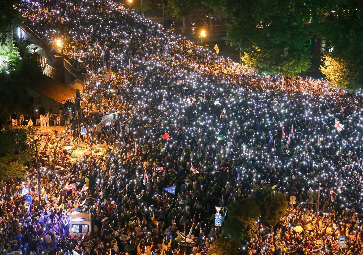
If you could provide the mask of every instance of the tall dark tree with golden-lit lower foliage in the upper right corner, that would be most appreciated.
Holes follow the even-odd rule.
[[[360,1],[318,1],[320,22],[315,33],[326,40],[321,71],[332,85],[347,89],[363,83],[363,13]]]

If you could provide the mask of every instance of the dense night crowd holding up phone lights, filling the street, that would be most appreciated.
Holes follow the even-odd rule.
[[[29,1],[20,11],[86,73],[87,135],[79,140],[77,121],[39,134],[41,199],[34,165],[5,183],[0,254],[181,254],[184,221],[195,238],[187,254],[206,254],[223,236],[214,206],[228,217],[253,183],[297,205],[277,226],[256,223],[248,254],[338,254],[342,235],[344,254],[362,253],[360,92],[260,76],[112,1]],[[74,210],[91,212],[89,237],[69,239]]]

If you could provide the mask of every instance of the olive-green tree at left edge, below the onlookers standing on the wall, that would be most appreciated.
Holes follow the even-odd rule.
[[[6,127],[0,132],[0,179],[6,180],[12,177],[24,177],[26,169],[24,165],[32,159],[34,152],[28,147],[34,137],[34,128],[13,129]],[[19,154],[14,154],[19,152]]]

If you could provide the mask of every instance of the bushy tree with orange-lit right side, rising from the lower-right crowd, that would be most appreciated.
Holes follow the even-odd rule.
[[[254,185],[251,197],[258,204],[261,211],[261,222],[275,226],[287,209],[285,195],[274,191],[269,186]]]

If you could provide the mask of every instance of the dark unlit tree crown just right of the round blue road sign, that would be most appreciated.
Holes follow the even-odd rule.
[[[257,220],[261,215],[261,211],[252,198],[246,198],[231,202],[228,206],[228,215],[230,217],[245,216]]]

